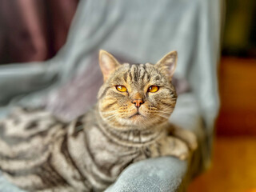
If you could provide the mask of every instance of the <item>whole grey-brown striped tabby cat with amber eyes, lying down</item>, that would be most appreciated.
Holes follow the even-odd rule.
[[[177,52],[155,65],[120,64],[99,52],[98,102],[70,123],[43,110],[18,109],[0,122],[0,170],[28,191],[102,191],[133,162],[197,148],[190,131],[171,126]]]

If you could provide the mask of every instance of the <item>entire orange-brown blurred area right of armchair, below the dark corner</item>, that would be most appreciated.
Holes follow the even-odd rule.
[[[189,192],[256,192],[256,59],[222,58],[213,165]]]

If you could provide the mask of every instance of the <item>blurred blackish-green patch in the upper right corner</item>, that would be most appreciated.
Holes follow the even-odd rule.
[[[222,54],[256,58],[256,1],[226,0]]]

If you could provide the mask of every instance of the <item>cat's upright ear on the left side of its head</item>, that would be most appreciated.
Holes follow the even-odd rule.
[[[116,58],[106,50],[99,50],[99,66],[102,69],[104,82],[110,77],[110,74],[116,70],[120,63]]]

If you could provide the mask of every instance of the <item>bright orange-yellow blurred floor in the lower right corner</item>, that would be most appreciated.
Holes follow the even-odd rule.
[[[256,138],[219,137],[210,170],[188,192],[256,192]]]

